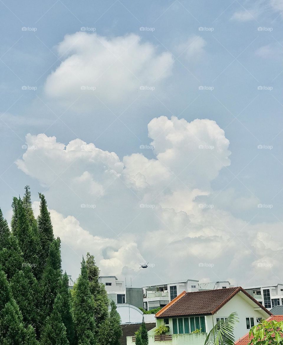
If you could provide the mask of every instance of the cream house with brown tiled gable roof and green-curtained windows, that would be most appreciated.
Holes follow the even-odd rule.
[[[148,332],[149,345],[203,345],[208,332],[221,320],[236,312],[239,323],[234,329],[235,339],[242,337],[253,325],[271,313],[242,287],[196,292],[183,291],[155,314],[156,327]],[[169,327],[164,336],[155,335],[160,325]],[[199,333],[195,333],[195,331]],[[127,338],[127,345],[133,345]]]

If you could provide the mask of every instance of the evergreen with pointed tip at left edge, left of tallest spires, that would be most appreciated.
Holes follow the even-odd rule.
[[[0,209],[0,266],[10,279],[23,263],[17,238],[11,234],[6,219]]]

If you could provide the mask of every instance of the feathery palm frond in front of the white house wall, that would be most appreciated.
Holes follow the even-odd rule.
[[[230,314],[225,321],[219,320],[205,339],[204,345],[234,345],[234,326],[239,322],[237,313]]]

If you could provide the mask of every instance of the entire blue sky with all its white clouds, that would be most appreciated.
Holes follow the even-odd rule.
[[[137,286],[184,276],[281,280],[282,0],[0,6],[0,205],[8,219],[26,184],[35,212],[44,192],[74,276],[90,250],[103,274],[134,276]],[[74,161],[63,158],[75,139]],[[100,156],[91,146],[87,158],[80,140]],[[203,154],[198,144],[214,147]],[[213,207],[200,212],[200,203]],[[82,212],[81,204],[95,207]],[[155,206],[140,215],[140,204]],[[142,260],[155,266],[141,273]]]

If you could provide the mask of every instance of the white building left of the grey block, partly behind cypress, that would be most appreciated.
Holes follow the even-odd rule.
[[[99,282],[105,285],[108,298],[113,300],[115,304],[125,304],[126,301],[126,287],[123,280],[118,280],[115,276],[101,276],[98,278]]]

